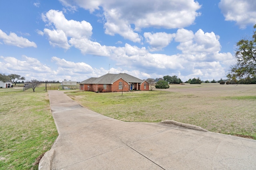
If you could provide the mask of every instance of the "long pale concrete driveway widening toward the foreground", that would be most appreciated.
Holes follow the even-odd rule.
[[[256,140],[168,123],[123,122],[48,91],[59,136],[40,170],[256,169]]]

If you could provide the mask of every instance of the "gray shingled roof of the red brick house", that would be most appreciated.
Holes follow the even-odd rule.
[[[144,80],[136,78],[126,73],[119,73],[119,74],[105,74],[99,78],[89,78],[80,82],[79,84],[112,84],[119,78],[124,79],[128,83],[142,83]]]

